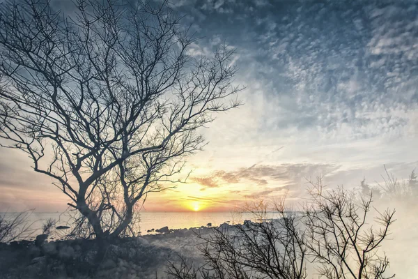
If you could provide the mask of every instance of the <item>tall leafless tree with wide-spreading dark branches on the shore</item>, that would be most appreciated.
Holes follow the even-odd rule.
[[[71,15],[48,1],[1,5],[2,145],[52,177],[98,239],[178,181],[212,112],[240,105],[234,51],[192,58],[180,20],[167,1],[77,0]]]

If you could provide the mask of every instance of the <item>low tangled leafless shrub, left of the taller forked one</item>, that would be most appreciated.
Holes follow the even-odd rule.
[[[206,264],[195,269],[182,258],[180,265],[171,263],[173,278],[307,278],[307,246],[299,219],[284,210],[284,199],[275,204],[274,220],[221,226],[208,236],[201,248]],[[268,205],[259,202],[247,206],[256,219],[266,219]]]

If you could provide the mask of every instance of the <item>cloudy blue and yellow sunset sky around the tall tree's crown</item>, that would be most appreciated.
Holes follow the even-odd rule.
[[[297,202],[309,177],[353,189],[382,181],[384,165],[398,179],[418,170],[416,1],[171,2],[201,38],[190,56],[235,47],[244,105],[201,130],[208,145],[188,158],[187,183],[148,195],[143,210]],[[23,153],[0,156],[0,211],[66,208]]]

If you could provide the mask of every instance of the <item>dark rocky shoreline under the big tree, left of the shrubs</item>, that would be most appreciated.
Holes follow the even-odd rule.
[[[167,259],[185,255],[199,261],[198,235],[214,228],[231,227],[211,223],[189,229],[155,229],[152,234],[118,239],[107,248],[101,262],[95,262],[98,243],[93,239],[35,240],[0,243],[2,278],[167,278]]]

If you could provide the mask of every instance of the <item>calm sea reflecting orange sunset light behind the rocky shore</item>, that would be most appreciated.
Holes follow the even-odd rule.
[[[15,212],[0,213],[3,218],[12,219],[17,214]],[[201,226],[219,226],[222,223],[231,225],[242,223],[244,220],[261,221],[272,218],[279,218],[278,213],[268,212],[263,215],[254,213],[240,212],[139,212],[137,218],[139,222],[135,222],[134,232],[140,235],[154,234],[155,229],[169,227],[169,229],[183,229]],[[68,213],[51,213],[51,212],[27,212],[26,225],[30,225],[31,236],[42,234],[42,225],[49,219],[56,220],[56,226],[71,227],[70,217]],[[138,219],[137,219],[138,220]],[[154,232],[149,232],[154,229]],[[70,229],[69,229],[70,230]]]

